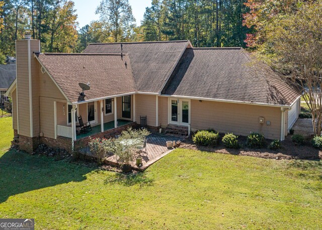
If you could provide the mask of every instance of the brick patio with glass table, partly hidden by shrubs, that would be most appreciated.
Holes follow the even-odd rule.
[[[154,162],[158,161],[159,159],[163,158],[167,154],[169,154],[174,148],[167,148],[166,141],[167,140],[183,140],[183,138],[177,137],[177,136],[171,136],[171,135],[164,135],[164,134],[150,134],[147,136],[147,144],[146,144],[146,150],[144,152],[141,152],[140,154],[136,154],[136,157],[141,156],[142,157],[142,167],[137,167],[135,165],[135,161],[131,162],[131,166],[135,170],[143,171],[150,165],[152,165]],[[81,154],[93,157],[91,151],[89,150],[89,147],[83,148],[79,151]],[[119,162],[116,160],[116,156],[108,156],[104,160],[105,164],[108,165],[114,165],[118,166]]]

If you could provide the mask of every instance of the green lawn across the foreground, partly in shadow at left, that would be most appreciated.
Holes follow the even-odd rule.
[[[0,175],[0,217],[36,229],[322,228],[321,162],[177,149],[124,177],[0,150]]]

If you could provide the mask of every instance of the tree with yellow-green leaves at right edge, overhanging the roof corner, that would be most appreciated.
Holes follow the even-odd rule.
[[[254,26],[249,46],[257,56],[282,73],[312,114],[314,134],[322,125],[322,1],[248,0],[251,13],[245,25]],[[284,5],[286,4],[286,5]],[[255,44],[255,45],[254,45]]]

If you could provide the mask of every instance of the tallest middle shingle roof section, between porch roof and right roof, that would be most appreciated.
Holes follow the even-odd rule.
[[[186,47],[190,45],[188,40],[100,43],[90,44],[84,53],[128,53],[137,91],[158,94],[162,91]]]

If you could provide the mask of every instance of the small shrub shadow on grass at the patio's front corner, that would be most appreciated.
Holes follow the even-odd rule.
[[[131,174],[118,173],[107,178],[105,184],[120,184],[128,187],[138,184],[142,187],[153,185],[153,180],[147,178],[145,174],[141,172]]]

